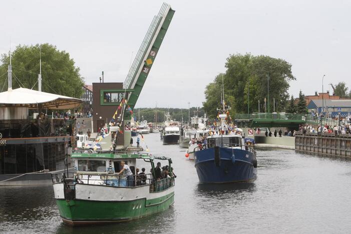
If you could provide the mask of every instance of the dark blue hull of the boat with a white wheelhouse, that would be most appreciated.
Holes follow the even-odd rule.
[[[256,178],[255,155],[244,149],[218,147],[195,151],[195,168],[202,183],[245,182]]]

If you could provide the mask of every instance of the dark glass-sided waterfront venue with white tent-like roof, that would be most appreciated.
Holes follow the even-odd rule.
[[[64,169],[75,120],[46,113],[80,104],[79,98],[12,89],[9,82],[8,91],[0,93],[0,185],[50,183],[50,172]]]

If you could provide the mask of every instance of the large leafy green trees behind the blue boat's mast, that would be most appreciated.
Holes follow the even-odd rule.
[[[270,109],[273,110],[273,98],[275,110],[283,111],[288,102],[289,81],[295,79],[291,72],[291,64],[280,58],[270,56],[253,56],[250,53],[234,54],[227,58],[227,68],[224,74],[224,93],[226,102],[232,107],[233,112],[247,113],[264,111],[264,98],[267,99],[267,76],[269,74],[269,100]],[[203,102],[205,111],[209,117],[216,116],[216,107],[220,105],[221,74],[206,86]],[[248,94],[249,93],[249,97]]]

